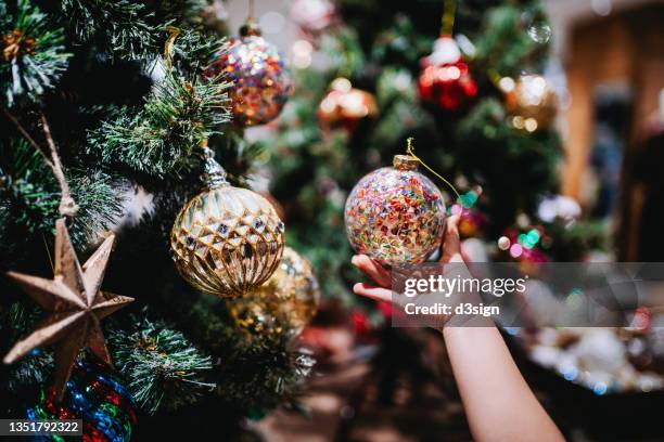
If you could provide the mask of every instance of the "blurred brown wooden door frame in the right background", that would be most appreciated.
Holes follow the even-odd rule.
[[[634,180],[631,166],[646,121],[657,110],[660,91],[664,88],[664,4],[642,5],[579,23],[572,31],[570,49],[566,73],[572,101],[565,116],[569,138],[562,191],[583,205],[583,177],[589,167],[595,135],[593,92],[601,83],[626,82],[634,104],[615,244],[617,259],[634,260],[643,193]]]

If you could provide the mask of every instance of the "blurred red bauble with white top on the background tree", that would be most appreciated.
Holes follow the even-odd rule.
[[[477,95],[477,83],[470,75],[461,51],[451,37],[440,37],[431,55],[420,63],[420,99],[444,110],[457,110]]]

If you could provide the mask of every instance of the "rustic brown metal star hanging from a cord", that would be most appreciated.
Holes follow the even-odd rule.
[[[51,315],[41,321],[29,336],[16,342],[3,362],[11,364],[36,347],[56,343],[54,388],[62,398],[81,348],[89,347],[111,364],[100,321],[133,301],[133,298],[100,290],[114,235],[110,235],[81,268],[64,219],[58,220],[55,227],[52,280],[8,272]]]

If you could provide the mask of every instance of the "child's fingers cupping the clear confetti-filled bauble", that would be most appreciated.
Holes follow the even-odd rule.
[[[394,297],[395,299],[392,297],[392,290],[390,288],[392,285],[392,276],[388,270],[384,269],[381,264],[366,255],[356,255],[350,262],[378,284],[378,286],[372,286],[365,283],[357,283],[353,286],[353,291],[355,291],[356,295],[366,296],[367,298],[378,301],[394,302],[403,307],[400,301],[406,300],[405,296],[397,295]],[[461,257],[461,239],[459,238],[459,216],[447,219],[445,240],[443,243],[443,256],[438,262],[444,264],[449,262],[464,262]]]

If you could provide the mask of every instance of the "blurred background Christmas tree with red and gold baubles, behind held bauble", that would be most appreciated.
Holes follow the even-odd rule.
[[[354,302],[348,192],[403,154],[408,136],[461,191],[448,206],[462,214],[462,234],[484,237],[499,259],[580,259],[597,238],[551,203],[562,152],[558,101],[541,76],[551,29],[539,1],[302,0],[292,16],[296,92],[259,145],[270,146],[288,242],[325,275],[327,296]],[[537,240],[521,244],[533,230]]]

